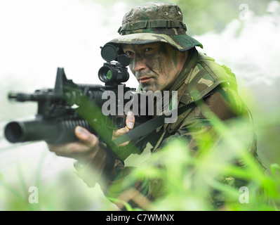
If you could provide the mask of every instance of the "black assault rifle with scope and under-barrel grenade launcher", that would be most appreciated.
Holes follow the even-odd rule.
[[[133,93],[135,89],[123,84],[129,78],[126,68],[130,63],[128,56],[118,55],[119,49],[111,44],[105,44],[101,49],[101,56],[106,63],[98,71],[98,77],[100,81],[105,82],[105,86],[75,84],[71,79],[67,79],[63,68],[58,68],[54,89],[40,89],[34,94],[8,94],[11,101],[37,102],[38,112],[35,120],[12,121],[6,124],[4,130],[6,139],[11,143],[26,141],[69,143],[77,140],[74,129],[79,125],[91,131],[113,149],[112,131],[125,126],[126,115],[123,111],[123,115],[118,113],[105,116],[101,110],[105,103],[102,94],[106,91],[114,92],[116,102],[113,107],[115,112],[119,112],[120,107],[124,108],[124,103],[133,101],[132,94],[130,99],[124,99],[126,102],[120,105],[119,87],[124,90],[122,94],[126,94],[127,91]]]

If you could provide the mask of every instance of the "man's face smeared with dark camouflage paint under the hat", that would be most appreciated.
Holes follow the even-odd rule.
[[[177,79],[187,59],[186,53],[169,44],[124,44],[131,58],[129,67],[144,91],[168,90]]]

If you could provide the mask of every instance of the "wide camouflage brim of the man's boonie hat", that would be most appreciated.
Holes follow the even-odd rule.
[[[171,44],[175,49],[179,51],[187,51],[192,49],[194,46],[200,46],[203,49],[203,45],[196,41],[196,39],[188,36],[187,34],[155,34],[155,33],[136,33],[136,34],[126,34],[121,35],[109,43],[112,44],[149,44],[152,42],[164,42]]]

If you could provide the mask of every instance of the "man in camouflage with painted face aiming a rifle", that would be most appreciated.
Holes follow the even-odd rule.
[[[152,2],[132,8],[126,13],[119,28],[121,35],[109,41],[131,58],[130,69],[140,84],[140,90],[177,91],[178,107],[205,97],[205,110],[194,104],[179,115],[176,122],[163,124],[161,129],[149,136],[147,142],[152,146],[152,153],[158,152],[173,137],[184,139],[192,153],[199,151],[200,139],[206,133],[211,134],[211,140],[206,141],[217,141],[211,124],[213,113],[222,121],[251,117],[237,93],[234,74],[225,66],[215,63],[213,58],[197,51],[196,46],[203,48],[202,44],[189,37],[186,31],[182,11],[178,6]],[[114,137],[133,129],[134,123],[133,114],[128,113],[126,127],[114,131]],[[79,142],[62,146],[49,145],[49,149],[58,155],[78,159],[76,169],[88,186],[94,186],[103,179],[105,182],[100,185],[105,195],[119,198],[124,190],[118,184],[121,184],[123,176],[129,174],[132,168],[126,167],[116,158],[110,158],[98,138],[86,129],[76,127],[75,134]],[[249,141],[251,145],[248,150],[258,160],[254,134]],[[128,148],[126,144],[120,148]],[[88,167],[98,171],[99,176],[84,176],[83,169]],[[112,185],[118,188],[110,188]],[[146,200],[154,200],[166,191],[160,178],[145,183],[136,182],[133,186],[129,194],[132,200],[136,193],[145,196]],[[129,203],[133,204],[133,201]],[[143,204],[141,206],[138,203],[138,206],[145,208]],[[116,205],[123,207],[120,203]]]

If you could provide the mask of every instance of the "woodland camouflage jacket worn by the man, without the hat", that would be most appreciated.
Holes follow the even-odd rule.
[[[209,93],[211,95],[204,98],[206,108],[194,104],[179,115],[176,122],[164,124],[149,135],[145,146],[152,154],[159,152],[174,137],[178,137],[185,141],[187,149],[195,155],[199,152],[201,144],[218,140],[213,124],[209,122],[212,117],[218,117],[222,121],[246,117],[251,123],[251,114],[237,93],[235,75],[227,67],[218,65],[213,58],[199,53],[195,48],[189,51],[185,67],[176,82],[180,83],[179,88],[175,89],[178,91],[178,107]],[[201,142],[201,139],[204,140]],[[248,150],[258,160],[254,132],[248,140]],[[236,163],[241,165],[241,162]],[[105,195],[116,200],[114,203],[121,209],[124,209],[124,202],[145,209],[149,201],[160,198],[168,191],[169,187],[161,177],[124,184],[132,170],[133,167],[116,160],[112,173],[105,183],[101,184]]]

